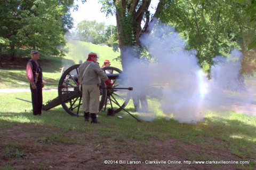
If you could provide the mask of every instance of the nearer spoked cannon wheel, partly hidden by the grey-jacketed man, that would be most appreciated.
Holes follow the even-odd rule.
[[[72,116],[84,116],[82,108],[82,92],[78,90],[78,67],[80,64],[69,67],[63,72],[58,86],[59,100],[63,109]],[[106,87],[101,83],[101,87]],[[102,110],[107,96],[106,88],[100,88],[100,106]]]

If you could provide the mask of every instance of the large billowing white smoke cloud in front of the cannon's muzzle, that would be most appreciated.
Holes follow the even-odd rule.
[[[151,27],[151,26],[150,26]],[[180,123],[196,123],[205,117],[205,110],[216,109],[223,103],[234,104],[223,90],[244,90],[245,86],[239,79],[242,54],[233,50],[228,58],[217,56],[212,67],[212,79],[208,80],[198,66],[196,51],[186,51],[185,41],[175,32],[174,28],[158,23],[150,34],[141,37],[143,46],[156,62],[136,59],[132,48],[125,53],[127,62],[125,76],[133,86],[133,95],[158,93],[161,98],[159,109],[166,119],[173,117]],[[157,92],[152,92],[157,88]],[[250,101],[251,102],[251,101]],[[152,104],[154,105],[154,104]],[[154,106],[149,106],[148,117],[143,113],[142,119],[156,118]],[[149,116],[150,115],[150,116]],[[154,115],[154,116],[153,116]],[[149,118],[151,117],[151,118]]]

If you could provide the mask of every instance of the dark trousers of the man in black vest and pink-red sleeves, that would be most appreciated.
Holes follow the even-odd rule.
[[[33,106],[33,115],[41,115],[42,114],[42,106],[43,106],[43,93],[42,93],[42,83],[36,83],[36,89],[33,89],[30,84],[31,90],[31,99]]]

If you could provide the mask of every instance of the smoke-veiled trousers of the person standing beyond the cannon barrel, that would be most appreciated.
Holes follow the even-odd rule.
[[[147,112],[148,111],[148,100],[146,94],[141,95],[134,95],[132,96],[132,101],[134,104],[135,111],[141,111],[140,110],[140,104],[142,111]]]

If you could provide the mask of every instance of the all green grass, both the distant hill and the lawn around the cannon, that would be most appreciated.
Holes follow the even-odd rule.
[[[100,55],[100,66],[103,60],[111,60],[111,66],[122,68],[121,63],[114,61],[118,53],[111,51],[110,47],[97,46],[84,42],[73,41],[68,44],[68,55],[61,58],[43,56],[43,60],[49,63],[43,65],[44,77],[49,84],[46,87],[57,87],[60,78],[61,60],[78,63],[79,59],[85,60],[87,53],[93,51]],[[1,70],[0,88],[28,88],[25,70]],[[15,85],[13,85],[15,84]],[[43,103],[58,96],[57,91],[44,91]],[[233,111],[217,112],[209,110],[202,122],[197,124],[178,123],[172,118],[167,121],[163,112],[158,109],[159,99],[157,97],[148,98],[150,110],[157,113],[156,119],[152,122],[138,123],[133,117],[124,111],[118,113],[122,119],[106,116],[106,112],[100,112],[98,118],[102,124],[94,125],[85,123],[82,117],[68,115],[61,106],[48,111],[43,111],[42,116],[33,116],[31,103],[17,100],[15,98],[31,99],[30,92],[0,93],[0,130],[8,131],[14,127],[22,127],[25,132],[29,132],[35,137],[37,143],[49,145],[57,144],[72,145],[79,144],[86,146],[86,143],[93,142],[93,151],[96,154],[108,154],[113,152],[113,148],[102,147],[106,143],[115,144],[116,150],[123,152],[133,148],[134,154],[139,158],[148,159],[149,155],[156,155],[157,150],[150,148],[153,139],[165,141],[175,139],[174,147],[181,147],[182,143],[197,145],[201,148],[200,153],[195,150],[189,152],[188,160],[220,160],[220,155],[230,153],[237,160],[254,160],[249,165],[235,165],[237,169],[255,169],[256,159],[256,117],[240,114]],[[131,114],[139,117],[140,114],[134,112],[132,102],[129,102],[125,109]],[[35,126],[36,125],[36,126]],[[31,127],[37,128],[33,131]],[[36,133],[38,132],[38,133]],[[32,135],[33,134],[33,135]],[[0,140],[4,135],[0,135]],[[149,147],[149,148],[147,148]],[[5,158],[8,159],[30,159],[25,154],[30,152],[19,143],[0,143],[0,149],[4,151]],[[213,150],[217,154],[209,153]],[[228,159],[228,158],[227,158]],[[12,164],[5,162],[3,169],[13,169]],[[1,166],[1,162],[0,162]],[[40,164],[45,167],[46,165]],[[220,167],[221,165],[212,165]]]

